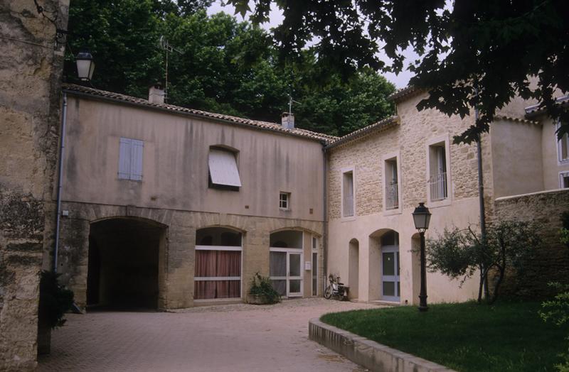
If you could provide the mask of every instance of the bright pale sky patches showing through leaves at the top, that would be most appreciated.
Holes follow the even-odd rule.
[[[225,13],[228,13],[232,16],[236,16],[238,18],[239,21],[243,21],[243,17],[240,16],[240,14],[235,14],[235,8],[233,6],[230,5],[223,5],[222,1],[220,0],[216,0],[213,2],[213,4],[211,4],[211,6],[208,8],[208,14],[215,14],[215,13],[219,13],[220,11],[223,11]],[[245,15],[245,19],[248,18],[248,15]],[[270,12],[270,21],[268,23],[263,23],[261,25],[262,28],[265,28],[265,30],[270,31],[270,28],[276,27],[278,25],[280,25],[280,23],[282,23],[282,12],[279,11],[279,9],[277,9],[275,7],[275,4],[272,4],[272,8],[271,8],[271,12]],[[413,52],[413,50],[405,50],[403,52],[403,55],[405,55],[405,58],[411,59],[411,60],[415,60],[418,58],[418,55],[415,54]],[[381,52],[379,53],[379,58],[383,61],[385,61],[388,65],[390,65],[390,60],[387,58],[387,56],[385,55],[385,53]],[[390,82],[393,82],[393,84],[395,84],[395,87],[397,88],[404,88],[407,87],[407,84],[409,83],[409,79],[410,77],[413,76],[413,74],[407,70],[405,70],[405,67],[403,69],[402,72],[399,73],[399,75],[395,75],[392,72],[386,72],[382,74],[383,76],[385,76],[385,78],[387,80],[389,80]]]

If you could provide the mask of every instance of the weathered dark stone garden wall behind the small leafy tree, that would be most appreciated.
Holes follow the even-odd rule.
[[[560,214],[569,212],[569,190],[536,192],[496,199],[496,220],[535,221],[544,245],[518,278],[506,278],[500,292],[529,298],[553,295],[549,282],[569,283],[569,248],[559,241]]]

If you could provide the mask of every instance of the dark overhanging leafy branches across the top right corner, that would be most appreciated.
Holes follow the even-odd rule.
[[[512,97],[536,99],[552,118],[561,118],[558,136],[569,133],[569,110],[555,104],[569,92],[569,2],[565,0],[228,0],[255,22],[267,21],[271,3],[285,19],[274,37],[285,58],[316,43],[319,62],[351,72],[403,69],[406,48],[410,84],[429,91],[418,108],[462,117],[478,106],[479,120],[454,138],[477,141],[488,131],[496,109]],[[393,61],[390,66],[378,51]],[[537,84],[532,85],[532,77]]]

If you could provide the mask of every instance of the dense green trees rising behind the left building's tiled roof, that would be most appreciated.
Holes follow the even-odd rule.
[[[278,61],[272,37],[258,26],[225,13],[208,16],[210,0],[74,0],[70,49],[89,48],[100,89],[147,97],[164,82],[164,36],[169,53],[169,103],[250,119],[278,121],[295,103],[297,126],[344,135],[393,114],[387,101],[395,87],[362,68],[344,78],[317,64],[316,50]],[[66,80],[76,82],[68,55]]]

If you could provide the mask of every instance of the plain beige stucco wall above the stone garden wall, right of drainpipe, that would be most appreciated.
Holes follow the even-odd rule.
[[[547,150],[542,151],[541,124],[499,119],[491,124],[490,136],[494,197],[543,190],[542,154]]]

